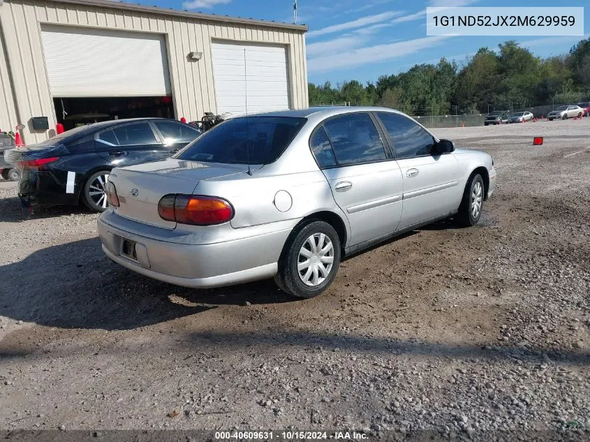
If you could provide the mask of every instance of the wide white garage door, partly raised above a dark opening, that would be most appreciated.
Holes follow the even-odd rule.
[[[164,36],[53,26],[41,36],[54,97],[171,94]]]

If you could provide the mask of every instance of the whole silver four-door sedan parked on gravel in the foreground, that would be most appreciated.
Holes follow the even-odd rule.
[[[425,224],[478,223],[485,152],[455,149],[386,108],[237,117],[170,159],[112,170],[103,251],[154,279],[205,288],[274,277],[318,295],[341,259]]]

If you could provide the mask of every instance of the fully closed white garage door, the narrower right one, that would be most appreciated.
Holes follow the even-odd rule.
[[[212,50],[218,113],[289,108],[284,46],[213,43]]]

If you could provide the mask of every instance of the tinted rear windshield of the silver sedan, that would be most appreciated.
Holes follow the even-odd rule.
[[[239,117],[205,132],[175,158],[226,164],[268,164],[281,156],[307,119]]]

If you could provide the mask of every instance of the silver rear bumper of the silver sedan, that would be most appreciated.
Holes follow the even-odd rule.
[[[109,222],[109,220],[111,222]],[[137,221],[121,219],[121,216],[104,212],[98,218],[98,235],[106,255],[118,263],[147,277],[177,286],[211,288],[273,277],[278,268],[279,256],[292,227],[266,225],[266,231],[213,244],[179,244],[161,238],[131,233],[135,228],[122,228],[121,224]],[[296,222],[296,221],[295,221]],[[278,230],[274,230],[281,227]],[[154,232],[158,228],[150,227]],[[166,229],[161,229],[166,230]],[[168,231],[169,232],[169,231]],[[162,232],[165,237],[166,232]],[[122,253],[124,240],[136,243],[137,260]]]

